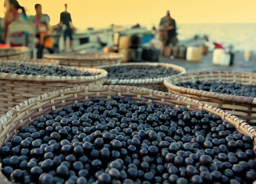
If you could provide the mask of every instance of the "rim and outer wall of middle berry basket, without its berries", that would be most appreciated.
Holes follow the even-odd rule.
[[[112,67],[120,67],[120,66],[127,66],[127,67],[134,67],[134,66],[161,66],[164,68],[172,68],[174,70],[180,71],[181,73],[186,73],[185,68],[167,64],[167,63],[122,63],[122,64],[113,64],[113,65],[103,65],[96,68],[112,68]],[[138,87],[145,87],[148,89],[154,89],[159,91],[167,91],[167,88],[163,85],[163,81],[170,76],[166,77],[159,77],[159,78],[148,78],[148,79],[105,79],[104,84],[106,85],[131,85],[131,86],[138,86]]]

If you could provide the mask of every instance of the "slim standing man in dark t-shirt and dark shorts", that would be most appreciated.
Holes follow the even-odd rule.
[[[68,8],[68,5],[65,4],[65,11],[61,12],[61,14],[60,14],[60,23],[66,25],[66,30],[64,31],[64,52],[66,51],[67,36],[69,36],[70,48],[71,48],[72,51],[74,51],[73,36],[72,36],[72,34],[73,34],[73,31],[72,31],[73,25],[72,25],[71,15],[70,15],[70,13],[67,12],[67,8]]]

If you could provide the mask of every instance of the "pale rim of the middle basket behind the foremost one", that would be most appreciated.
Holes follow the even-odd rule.
[[[118,63],[118,64],[110,64],[110,65],[101,65],[94,68],[112,68],[112,67],[118,67],[118,66],[162,66],[162,67],[168,67],[175,69],[177,71],[180,71],[181,73],[186,73],[186,69],[174,64],[169,63],[151,63],[151,62],[145,62],[145,63]],[[179,73],[180,74],[180,73]],[[116,85],[123,85],[123,84],[156,84],[156,83],[162,83],[164,80],[166,80],[168,77],[158,77],[158,78],[148,78],[148,79],[105,79],[105,84],[116,84]]]

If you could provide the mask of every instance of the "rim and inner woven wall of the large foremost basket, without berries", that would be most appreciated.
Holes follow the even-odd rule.
[[[12,108],[0,119],[0,147],[5,142],[10,141],[18,133],[20,127],[28,126],[35,118],[42,117],[52,110],[61,111],[64,106],[71,106],[73,103],[82,104],[95,96],[98,98],[112,98],[114,95],[123,98],[130,96],[136,101],[145,100],[147,104],[154,101],[157,104],[170,105],[174,108],[186,106],[189,111],[205,110],[218,115],[222,120],[233,124],[237,132],[251,136],[253,138],[253,150],[256,151],[256,130],[236,116],[188,97],[134,86],[76,87],[54,91],[26,100]],[[11,184],[2,173],[0,173],[0,182],[1,184]]]

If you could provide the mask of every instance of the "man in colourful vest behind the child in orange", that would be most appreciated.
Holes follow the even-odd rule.
[[[38,30],[38,26],[40,23],[45,22],[47,26],[49,26],[50,17],[47,14],[42,13],[42,5],[35,4],[35,15],[31,15],[29,17],[29,21],[34,22],[37,27],[37,37],[40,37],[40,32]]]

